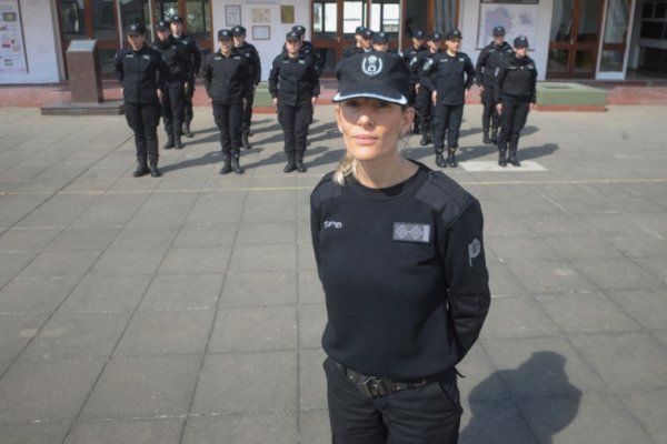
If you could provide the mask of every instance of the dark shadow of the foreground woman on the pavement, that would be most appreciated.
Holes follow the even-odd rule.
[[[495,372],[479,383],[469,395],[472,417],[459,444],[551,444],[577,416],[581,400],[565,362],[558,353],[536,352],[518,369]],[[510,397],[498,398],[499,383],[510,390]]]

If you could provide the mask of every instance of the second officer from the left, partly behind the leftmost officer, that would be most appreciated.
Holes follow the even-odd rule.
[[[190,56],[186,47],[176,42],[169,22],[165,20],[158,22],[158,40],[152,48],[162,54],[162,60],[169,68],[169,77],[162,90],[162,120],[167,131],[167,143],[163,148],[181,149],[183,144],[180,132],[183,122],[183,99],[191,70]]]

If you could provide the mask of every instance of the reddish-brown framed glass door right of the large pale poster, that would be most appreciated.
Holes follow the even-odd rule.
[[[597,65],[604,0],[554,2],[548,79],[593,79]]]

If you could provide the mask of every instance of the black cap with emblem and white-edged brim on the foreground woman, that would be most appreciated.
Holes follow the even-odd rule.
[[[410,73],[398,54],[358,52],[338,63],[336,79],[338,93],[335,102],[370,98],[397,104],[408,103]]]

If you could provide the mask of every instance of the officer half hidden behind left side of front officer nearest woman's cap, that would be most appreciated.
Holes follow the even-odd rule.
[[[415,87],[417,91],[417,112],[419,113],[419,124],[421,129],[421,141],[419,144],[426,147],[432,142],[432,122],[434,122],[434,102],[429,84],[425,84],[425,77],[428,75],[431,65],[431,58],[442,52],[442,34],[434,32],[428,37],[427,51],[417,53],[416,70],[419,77],[419,83]]]

